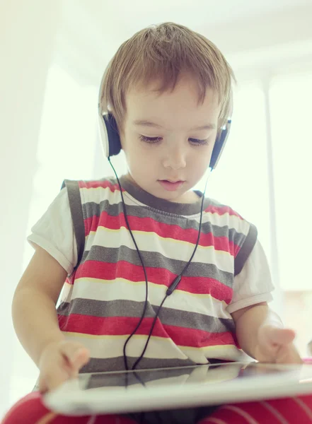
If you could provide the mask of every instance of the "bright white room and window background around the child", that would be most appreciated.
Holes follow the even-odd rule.
[[[101,76],[135,31],[173,20],[218,45],[238,79],[231,136],[207,194],[258,226],[273,307],[312,338],[312,3],[303,0],[0,1],[0,416],[33,387],[11,300],[30,227],[64,178],[111,175],[97,131]],[[125,170],[122,155],[113,159]],[[203,189],[203,182],[198,188]]]

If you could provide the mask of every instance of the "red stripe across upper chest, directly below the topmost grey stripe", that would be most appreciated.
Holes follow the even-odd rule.
[[[147,216],[144,218],[128,216],[128,221],[133,231],[154,232],[159,237],[190,242],[193,245],[197,242],[198,230],[195,230],[195,228],[183,229],[179,225],[159,223]],[[118,216],[110,216],[106,211],[103,211],[100,217],[91,216],[84,220],[85,234],[88,235],[90,231],[96,231],[98,225],[110,230],[120,230],[122,227],[127,228],[124,213],[120,213]],[[216,237],[211,232],[208,234],[201,234],[200,246],[214,246],[216,250],[230,252],[232,256],[237,254],[240,249],[240,247],[234,245],[233,241],[229,240],[228,237]]]

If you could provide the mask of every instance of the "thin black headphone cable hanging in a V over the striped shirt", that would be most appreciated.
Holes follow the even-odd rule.
[[[119,180],[119,178],[117,176],[117,172],[115,171],[115,167],[110,162],[110,158],[109,157],[108,157],[108,161],[109,161],[110,166],[112,167],[112,170],[114,171],[115,176],[117,178],[117,182],[118,182],[118,185],[119,185],[119,188],[120,188],[120,195],[121,195],[121,198],[122,198],[122,208],[123,208],[123,211],[124,211],[125,221],[127,223],[127,228],[129,230],[130,235],[132,237],[132,240],[134,242],[134,246],[136,247],[137,253],[139,254],[139,259],[141,261],[141,265],[142,265],[142,268],[143,268],[143,271],[144,271],[144,276],[145,276],[145,287],[146,287],[146,292],[145,293],[146,293],[146,295],[145,295],[144,309],[143,309],[143,312],[141,314],[141,318],[139,320],[139,323],[135,327],[134,331],[132,331],[132,334],[130,334],[129,337],[127,338],[127,340],[125,341],[124,348],[123,348],[125,369],[128,371],[129,370],[129,367],[128,367],[128,363],[127,363],[126,347],[127,347],[127,343],[129,342],[130,338],[132,338],[132,336],[137,332],[137,329],[139,329],[139,326],[141,325],[141,322],[143,321],[143,319],[145,317],[146,308],[147,308],[149,283],[147,282],[146,269],[145,269],[145,266],[144,266],[143,259],[141,257],[141,253],[139,252],[139,248],[137,247],[137,242],[134,240],[134,235],[132,234],[132,230],[131,230],[130,225],[129,225],[129,221],[128,221],[128,217],[127,217],[127,211],[126,211],[126,205],[125,205],[124,196],[122,194],[122,187],[121,187],[121,184],[120,184],[120,180]],[[163,301],[161,302],[161,305],[159,305],[158,311],[156,313],[156,316],[154,317],[153,324],[151,325],[151,330],[149,331],[149,336],[148,336],[148,338],[146,340],[144,349],[143,349],[141,355],[139,356],[139,358],[135,361],[134,365],[132,365],[132,370],[135,370],[136,369],[137,365],[139,364],[139,362],[141,361],[141,359],[144,357],[144,353],[146,352],[146,348],[147,348],[147,346],[149,344],[149,340],[150,340],[151,335],[153,333],[154,326],[156,324],[156,320],[157,320],[157,318],[159,316],[159,312],[161,311],[161,307],[163,307],[163,303],[165,302],[166,298],[168,298],[168,296],[170,296],[173,293],[173,290],[175,290],[175,288],[178,286],[178,284],[180,283],[180,280],[181,280],[181,278],[183,276],[183,273],[185,273],[185,271],[187,270],[188,266],[190,265],[190,262],[192,261],[194,255],[195,255],[195,252],[196,252],[198,243],[200,242],[200,230],[202,228],[202,208],[203,208],[203,204],[204,204],[204,194],[206,192],[208,178],[209,178],[209,176],[206,179],[206,184],[204,186],[204,193],[202,194],[202,204],[201,204],[201,208],[200,208],[200,227],[198,228],[198,236],[197,236],[197,242],[196,242],[196,245],[195,245],[195,249],[193,250],[192,255],[191,255],[190,259],[187,261],[187,264],[185,265],[183,271],[177,277],[175,277],[175,279],[173,280],[173,282],[171,283],[171,285],[166,290],[166,295],[163,298]]]

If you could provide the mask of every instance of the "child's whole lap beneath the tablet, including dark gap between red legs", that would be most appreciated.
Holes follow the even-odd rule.
[[[312,394],[263,402],[229,404],[216,408],[194,408],[107,416],[61,416],[42,404],[39,392],[18,401],[2,424],[312,424]]]

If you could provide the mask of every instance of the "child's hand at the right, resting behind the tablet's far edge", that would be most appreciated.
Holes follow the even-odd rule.
[[[301,364],[294,346],[294,330],[264,324],[258,331],[255,359],[263,363]]]

